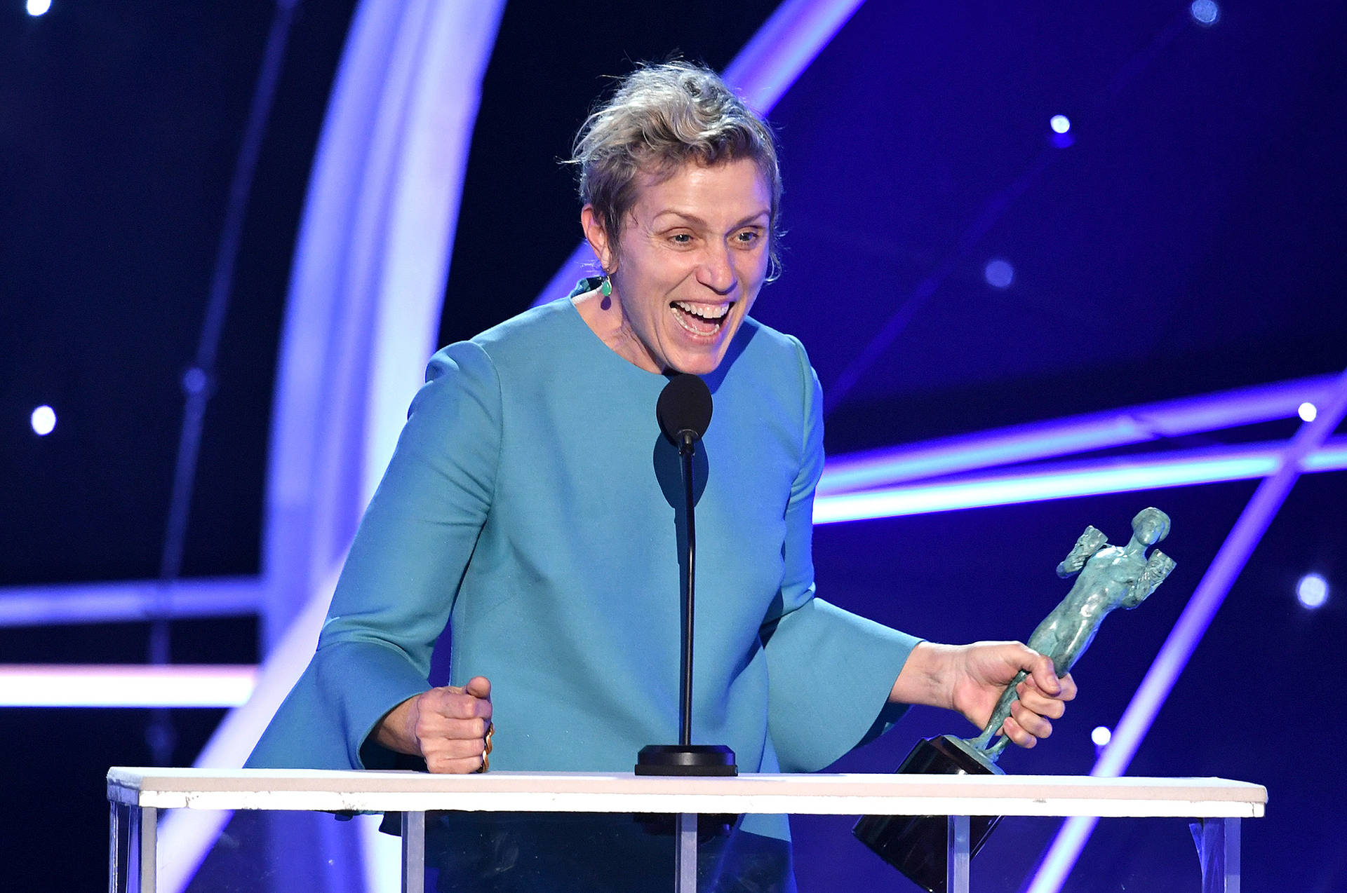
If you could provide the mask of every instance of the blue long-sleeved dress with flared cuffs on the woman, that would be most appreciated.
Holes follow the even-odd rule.
[[[822,397],[800,343],[746,319],[706,377],[694,742],[741,772],[810,772],[882,732],[917,639],[814,593]],[[570,300],[432,358],[350,549],[318,652],[248,765],[388,768],[368,740],[427,687],[492,681],[492,769],[632,771],[679,724],[675,448],[665,378]],[[784,816],[744,828],[788,839]]]

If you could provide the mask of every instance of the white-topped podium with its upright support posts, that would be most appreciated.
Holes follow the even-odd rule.
[[[1239,890],[1239,820],[1262,816],[1262,785],[1224,779],[1088,776],[489,772],[323,769],[108,771],[109,893],[155,893],[164,810],[401,812],[403,890],[424,893],[426,814],[644,812],[679,816],[676,893],[696,889],[699,814],[946,815],[948,892],[968,893],[968,816],[1189,818],[1203,823],[1203,893]],[[125,831],[125,851],[121,841]],[[125,876],[125,884],[121,878]],[[897,882],[900,876],[894,873]]]

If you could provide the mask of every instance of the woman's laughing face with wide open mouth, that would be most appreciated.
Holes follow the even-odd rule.
[[[749,159],[640,175],[616,256],[582,217],[612,273],[622,334],[612,347],[651,373],[704,375],[725,358],[768,266],[770,192]]]

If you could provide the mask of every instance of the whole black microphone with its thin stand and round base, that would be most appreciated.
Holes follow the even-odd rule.
[[[692,456],[711,424],[711,389],[696,375],[679,373],[655,403],[660,430],[678,444],[687,511],[687,584],[683,589],[682,711],[678,744],[651,744],[636,757],[636,775],[738,775],[734,750],[723,744],[692,744],[692,611],[696,592],[696,499]],[[679,816],[679,827],[687,816]]]

